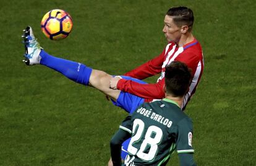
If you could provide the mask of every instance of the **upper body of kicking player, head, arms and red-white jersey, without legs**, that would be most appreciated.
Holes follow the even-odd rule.
[[[168,45],[163,52],[152,60],[124,74],[137,79],[145,79],[161,73],[156,84],[140,84],[121,77],[111,79],[111,88],[129,92],[145,98],[145,102],[156,98],[163,98],[165,66],[171,61],[182,61],[192,69],[193,80],[189,92],[184,98],[182,109],[186,108],[190,97],[195,93],[198,82],[203,73],[202,47],[192,34],[194,15],[187,7],[173,7],[168,10],[164,17],[163,33]]]

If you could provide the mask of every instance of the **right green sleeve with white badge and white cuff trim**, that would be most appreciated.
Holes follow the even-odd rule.
[[[192,148],[192,121],[189,118],[182,119],[177,124],[176,146],[177,153],[194,152]]]

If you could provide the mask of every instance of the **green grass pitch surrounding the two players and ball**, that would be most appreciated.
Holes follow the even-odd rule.
[[[166,41],[169,7],[194,10],[205,71],[186,113],[194,121],[198,165],[255,165],[255,2],[0,2],[0,165],[106,165],[109,140],[127,114],[95,89],[45,66],[25,66],[22,30],[61,58],[123,74],[155,57]],[[72,15],[67,39],[50,41],[40,22],[51,9]],[[147,79],[155,82],[156,77]],[[177,154],[168,165],[179,165]]]

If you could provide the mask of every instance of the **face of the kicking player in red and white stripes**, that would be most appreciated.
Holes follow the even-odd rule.
[[[165,15],[163,33],[168,41],[179,42],[181,39],[181,27],[173,22],[173,17]]]

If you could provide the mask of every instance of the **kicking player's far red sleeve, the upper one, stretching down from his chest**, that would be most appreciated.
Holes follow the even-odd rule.
[[[137,79],[145,79],[147,77],[155,76],[156,74],[161,73],[164,61],[164,53],[165,50],[163,50],[163,52],[157,57],[125,73],[124,76],[130,76]]]

